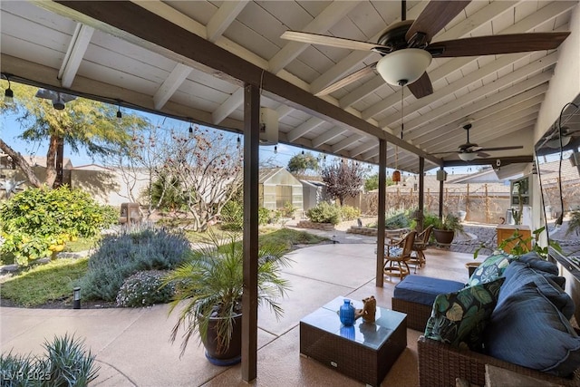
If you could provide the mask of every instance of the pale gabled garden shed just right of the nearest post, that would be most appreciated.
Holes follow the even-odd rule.
[[[302,211],[303,192],[300,180],[282,167],[260,169],[259,179],[260,207],[280,209],[286,203]]]

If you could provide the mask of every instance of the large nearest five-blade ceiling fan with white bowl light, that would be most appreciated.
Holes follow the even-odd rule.
[[[433,93],[429,75],[425,72],[433,57],[480,56],[501,53],[523,53],[556,49],[569,32],[488,35],[431,43],[455,16],[469,5],[468,1],[434,0],[416,20],[406,19],[406,2],[401,1],[401,22],[385,30],[376,44],[323,34],[286,31],[282,39],[307,44],[322,44],[350,50],[380,53],[382,58],[345,78],[327,86],[315,95],[326,95],[357,81],[376,70],[385,82],[405,86],[416,98]]]

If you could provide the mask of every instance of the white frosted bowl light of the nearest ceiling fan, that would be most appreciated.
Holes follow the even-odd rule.
[[[377,63],[377,72],[389,84],[409,84],[425,73],[431,59],[431,54],[425,50],[405,48],[383,56]]]

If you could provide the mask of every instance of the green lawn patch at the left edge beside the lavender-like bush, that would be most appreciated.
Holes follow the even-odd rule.
[[[31,307],[73,296],[73,287],[84,276],[88,258],[56,259],[27,268],[1,284],[2,298]]]

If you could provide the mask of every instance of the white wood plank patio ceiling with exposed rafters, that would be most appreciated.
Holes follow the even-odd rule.
[[[13,74],[15,80],[242,131],[243,80],[167,46],[147,42],[121,26],[127,23],[131,28],[146,28],[139,27],[137,15],[113,26],[103,23],[111,17],[112,3],[116,2],[99,4],[102,17],[88,17],[73,12],[70,8],[74,6],[66,2],[2,1],[2,72]],[[281,34],[297,30],[376,42],[385,28],[401,21],[401,3],[397,1],[133,3],[130,5],[138,5],[140,11],[158,15],[311,96],[376,62],[380,55],[290,42],[281,39]],[[407,19],[420,15],[427,3],[407,2]],[[472,1],[432,42],[488,34],[568,31],[577,4]],[[433,59],[427,70],[434,90],[431,95],[416,99],[403,88],[402,142],[398,141],[401,87],[387,84],[378,73],[330,95],[309,98],[311,102],[304,107],[265,87],[261,105],[277,111],[280,142],[377,163],[379,141],[372,134],[376,130],[385,133],[389,141],[387,164],[412,172],[419,169],[417,154],[426,157],[426,169],[440,165],[440,156],[459,160],[456,153],[437,157],[430,153],[458,150],[467,140],[462,129],[466,121],[473,125],[469,140],[479,146],[524,146],[522,150],[490,152],[490,159],[530,156],[537,114],[563,49],[565,44],[550,51]],[[346,111],[356,118],[354,122],[364,125],[357,127],[342,116],[328,117],[327,112],[313,107],[317,98],[326,103],[324,106]]]

